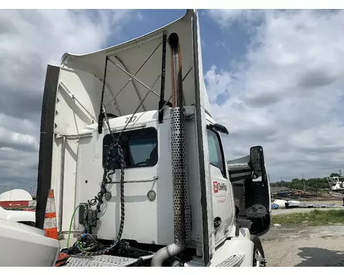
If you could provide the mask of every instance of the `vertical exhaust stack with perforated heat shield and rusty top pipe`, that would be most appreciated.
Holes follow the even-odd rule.
[[[155,253],[151,266],[162,266],[164,261],[180,254],[189,241],[191,232],[190,204],[186,186],[185,109],[182,89],[182,54],[178,34],[169,36],[171,47],[172,109],[171,159],[173,182],[174,243]]]

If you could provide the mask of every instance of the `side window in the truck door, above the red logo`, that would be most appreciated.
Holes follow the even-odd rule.
[[[207,129],[207,136],[209,161],[211,162],[211,165],[219,168],[219,170],[221,170],[222,175],[227,178],[226,163],[224,160],[224,152],[222,149],[221,140],[219,139],[219,133],[211,129]]]

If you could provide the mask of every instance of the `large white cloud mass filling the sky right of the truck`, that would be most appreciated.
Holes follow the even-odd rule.
[[[272,180],[343,168],[344,11],[208,14],[225,32],[241,21],[253,34],[233,72],[206,72],[213,115],[232,133],[224,138],[228,158],[261,144]],[[228,99],[216,104],[223,93]]]

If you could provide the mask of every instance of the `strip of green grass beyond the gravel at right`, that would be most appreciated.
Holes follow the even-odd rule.
[[[279,214],[272,216],[271,224],[281,225],[344,225],[344,210],[313,210],[293,214]]]

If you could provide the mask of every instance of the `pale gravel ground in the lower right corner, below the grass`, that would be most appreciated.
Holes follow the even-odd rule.
[[[268,266],[344,266],[344,225],[272,226],[260,239]]]

